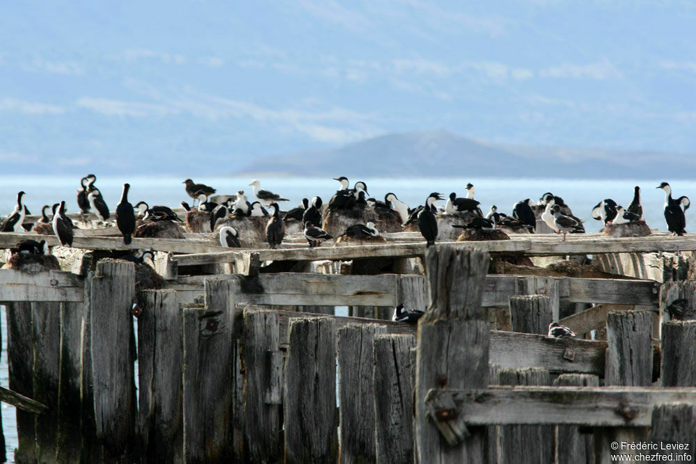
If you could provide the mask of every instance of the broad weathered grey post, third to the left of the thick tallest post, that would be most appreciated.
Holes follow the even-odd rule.
[[[290,319],[285,363],[285,462],[335,463],[336,336],[328,317]]]

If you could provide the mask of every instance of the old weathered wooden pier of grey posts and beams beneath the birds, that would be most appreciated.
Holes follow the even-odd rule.
[[[0,234],[46,239],[63,269],[0,270],[15,459],[604,463],[619,438],[696,457],[696,237],[385,236],[230,251],[210,234],[124,246],[80,230],[71,250]],[[161,288],[100,259],[126,248],[158,252]],[[583,255],[586,275],[489,273]],[[392,322],[399,303],[427,312]],[[578,337],[546,337],[557,320]]]

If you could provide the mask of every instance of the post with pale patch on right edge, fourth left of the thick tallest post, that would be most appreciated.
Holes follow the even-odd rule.
[[[244,449],[251,462],[283,458],[283,353],[278,342],[277,312],[244,311]]]

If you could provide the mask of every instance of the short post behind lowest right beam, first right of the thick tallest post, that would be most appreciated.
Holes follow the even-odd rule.
[[[500,369],[500,385],[551,385],[546,369]],[[551,463],[553,426],[506,425],[500,427],[500,463]]]

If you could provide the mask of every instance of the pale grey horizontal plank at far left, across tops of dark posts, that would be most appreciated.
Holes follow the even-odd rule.
[[[84,280],[63,271],[27,274],[1,269],[0,287],[0,301],[82,302],[84,299]]]

